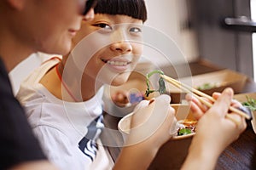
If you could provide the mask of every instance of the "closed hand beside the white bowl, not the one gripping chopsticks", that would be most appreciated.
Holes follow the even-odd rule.
[[[175,110],[170,106],[171,97],[163,94],[150,101],[143,100],[131,118],[129,144],[143,142],[159,148],[171,138],[170,130],[176,125]]]

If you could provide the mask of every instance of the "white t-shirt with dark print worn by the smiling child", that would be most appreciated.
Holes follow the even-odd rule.
[[[58,62],[52,59],[41,65],[17,94],[33,132],[49,161],[62,170],[112,169],[112,158],[97,138],[103,126],[103,89],[85,102],[55,98],[39,81]]]

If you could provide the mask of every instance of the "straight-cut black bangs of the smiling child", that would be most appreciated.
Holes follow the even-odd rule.
[[[125,14],[134,19],[147,20],[144,0],[98,0],[95,14]]]

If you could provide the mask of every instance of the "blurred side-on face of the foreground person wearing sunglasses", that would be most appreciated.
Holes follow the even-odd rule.
[[[67,54],[72,38],[80,29],[85,0],[29,0],[20,20],[26,26],[20,36],[26,37],[36,51],[49,54]],[[94,11],[90,10],[90,14]],[[24,16],[30,17],[24,17]],[[16,27],[19,29],[19,27]]]

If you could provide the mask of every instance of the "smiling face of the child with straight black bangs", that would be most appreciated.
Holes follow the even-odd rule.
[[[73,38],[74,44],[91,32],[94,32],[97,38],[87,43],[89,48],[94,48],[94,45],[105,41],[106,38],[110,40],[107,46],[96,50],[96,54],[90,57],[83,77],[114,86],[126,82],[143,53],[142,27],[142,20],[120,14],[95,14],[94,20],[83,21],[81,30]],[[84,53],[86,54],[86,47]]]

